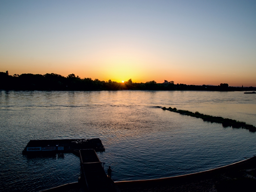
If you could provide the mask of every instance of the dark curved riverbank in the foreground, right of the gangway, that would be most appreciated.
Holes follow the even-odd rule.
[[[249,191],[256,185],[256,157],[224,167],[156,180],[120,181],[121,192]]]

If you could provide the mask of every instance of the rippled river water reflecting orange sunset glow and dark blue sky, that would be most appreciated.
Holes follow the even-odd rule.
[[[204,171],[256,154],[256,133],[157,106],[256,126],[256,95],[243,92],[0,91],[0,190],[39,191],[77,181],[80,161],[73,154],[22,155],[32,139],[100,138],[106,151],[98,156],[111,166],[114,181]]]

